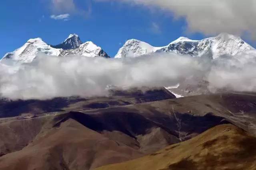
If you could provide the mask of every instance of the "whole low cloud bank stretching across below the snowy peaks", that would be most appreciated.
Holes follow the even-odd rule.
[[[256,53],[211,61],[174,53],[127,59],[54,57],[40,54],[18,71],[0,67],[0,95],[10,99],[48,99],[108,95],[107,85],[120,87],[175,86],[191,77],[204,77],[209,89],[256,92]]]

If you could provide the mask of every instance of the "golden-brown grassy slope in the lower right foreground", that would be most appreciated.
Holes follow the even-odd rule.
[[[256,138],[234,125],[218,125],[154,154],[95,170],[255,170]]]

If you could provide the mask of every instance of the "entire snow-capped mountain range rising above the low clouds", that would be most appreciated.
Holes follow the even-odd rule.
[[[152,53],[176,53],[190,55],[192,57],[210,57],[216,59],[222,55],[236,55],[247,50],[255,50],[240,37],[228,33],[221,33],[216,37],[202,40],[191,40],[180,37],[164,47],[154,47],[146,42],[136,39],[126,41],[114,58],[139,57]],[[48,45],[41,38],[29,39],[22,47],[7,53],[1,59],[1,63],[30,63],[37,53],[45,53],[54,56],[81,55],[85,57],[110,56],[92,41],[82,43],[79,36],[70,34],[65,41],[58,45]]]

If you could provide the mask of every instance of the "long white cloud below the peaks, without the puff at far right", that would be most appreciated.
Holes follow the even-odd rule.
[[[0,94],[12,99],[107,95],[106,86],[174,86],[203,67],[192,57],[135,59],[38,56],[16,73],[0,67]]]

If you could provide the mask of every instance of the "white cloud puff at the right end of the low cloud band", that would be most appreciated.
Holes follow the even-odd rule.
[[[228,88],[256,92],[256,52],[247,51],[234,57],[222,57],[212,64],[208,74],[209,89]]]

